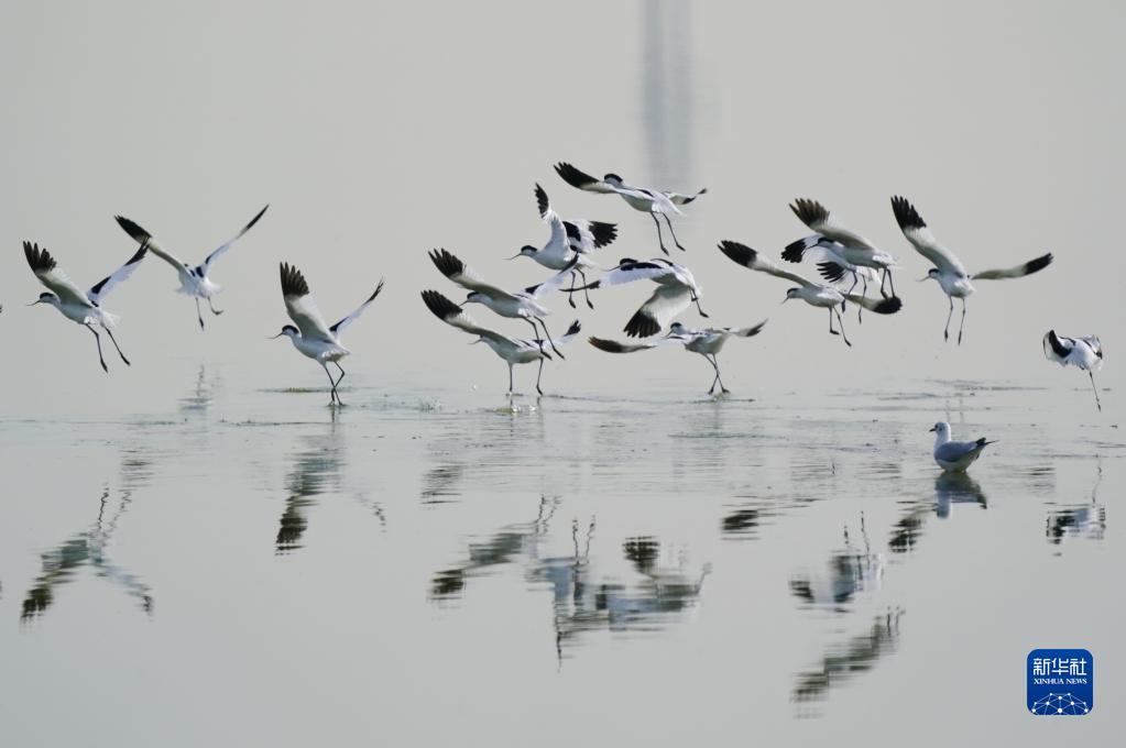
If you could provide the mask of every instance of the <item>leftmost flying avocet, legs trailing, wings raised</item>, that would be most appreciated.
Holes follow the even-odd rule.
[[[122,357],[122,361],[125,362],[125,366],[131,366],[129,360],[122,353],[122,349],[117,344],[117,339],[114,337],[113,328],[119,317],[102,309],[101,300],[118,283],[133,274],[133,271],[137,269],[137,265],[144,259],[148,251],[148,245],[142,243],[140,249],[133,253],[133,256],[125,264],[115,270],[113,274],[99,280],[90,290],[83,291],[57,267],[55,259],[51,256],[45,247],[39,249],[38,244],[24,242],[24,255],[27,258],[27,264],[32,267],[32,272],[39,279],[41,283],[53,291],[51,294],[39,294],[38,300],[32,301],[28,306],[35,306],[36,304],[53,306],[64,317],[77,322],[93,333],[93,339],[98,343],[98,361],[101,363],[101,369],[107,373],[109,372],[109,367],[106,366],[106,359],[101,355],[101,336],[98,335],[95,325],[106,331],[109,340],[114,343],[114,348],[117,349],[117,354]]]

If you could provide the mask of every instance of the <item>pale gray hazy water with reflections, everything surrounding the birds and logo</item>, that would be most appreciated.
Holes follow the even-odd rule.
[[[1124,15],[0,7],[0,744],[1106,742]],[[698,357],[578,344],[544,373],[565,397],[510,411],[504,364],[426,310],[425,288],[461,295],[435,246],[500,285],[546,274],[502,261],[546,237],[536,181],[619,224],[604,264],[658,254],[649,217],[560,160],[709,189],[673,259],[712,322],[770,317],[723,353],[731,399],[703,396]],[[893,193],[971,271],[1056,263],[981,282],[944,344]],[[851,350],[715,249],[776,255],[799,196],[901,259],[903,312],[850,310]],[[89,286],[133,251],[114,214],[198,261],[265,202],[206,333],[155,259],[108,298],[132,368],[107,353],[104,375],[87,332],[21,306],[42,290],[24,240]],[[319,367],[265,340],[288,322],[280,260],[330,318],[386,278],[336,416]],[[620,336],[649,292],[599,294],[584,335]],[[1102,336],[1101,415],[1044,360],[1051,326]],[[1000,440],[972,481],[938,477],[938,418]],[[1024,658],[1053,646],[1094,652],[1089,718],[1024,714]]]

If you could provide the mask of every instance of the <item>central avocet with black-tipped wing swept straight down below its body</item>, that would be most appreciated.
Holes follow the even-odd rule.
[[[692,304],[701,317],[707,317],[700,307],[700,296],[704,291],[696,282],[692,271],[662,258],[649,261],[624,258],[617,268],[583,288],[620,286],[635,280],[652,280],[656,283],[656,290],[634,312],[623,328],[629,337],[649,337],[658,334]]]

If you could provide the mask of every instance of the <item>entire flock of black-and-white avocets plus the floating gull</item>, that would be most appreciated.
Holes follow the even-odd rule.
[[[540,379],[544,362],[552,360],[553,357],[563,359],[561,346],[572,342],[581,330],[579,321],[575,321],[563,335],[553,339],[545,322],[545,317],[549,314],[548,298],[553,294],[564,292],[570,306],[575,308],[574,297],[582,292],[587,306],[593,308],[595,305],[590,296],[592,290],[635,281],[651,281],[655,288],[624,327],[626,336],[638,339],[636,342],[619,342],[601,337],[590,337],[588,342],[609,353],[634,353],[667,344],[679,344],[686,351],[704,357],[711,364],[714,378],[708,389],[709,394],[714,393],[716,387],[723,394],[729,393],[730,390],[724,386],[721,376],[718,353],[727,340],[732,337],[751,337],[758,334],[766,321],[743,327],[704,328],[694,328],[683,323],[674,322],[677,316],[694,305],[700,317],[706,318],[708,315],[700,306],[700,296],[703,295],[700,285],[687,267],[669,259],[670,253],[664,238],[667,231],[672,244],[685,251],[685,246],[677,238],[673,229],[673,218],[683,215],[681,207],[691,204],[707,190],[680,193],[635,187],[613,173],[597,179],[570,163],[556,164],[555,171],[572,187],[588,192],[617,195],[635,210],[647,213],[656,227],[658,244],[665,256],[650,260],[625,258],[608,270],[599,268],[593,255],[597,250],[607,246],[617,238],[617,226],[599,220],[564,220],[552,208],[544,189],[536,184],[535,196],[539,215],[549,226],[551,234],[543,246],[526,245],[520,249],[519,253],[509,259],[529,258],[552,270],[553,274],[535,286],[508,291],[486,282],[452,252],[436,249],[429,253],[434,265],[443,276],[461,286],[468,294],[462,304],[456,304],[437,290],[425,290],[422,291],[422,300],[427,308],[446,324],[474,336],[476,339],[474,342],[485,343],[498,357],[504,360],[509,368],[508,391],[510,395],[513,391],[513,368],[517,364],[538,363],[536,391],[543,394]],[[962,301],[962,317],[957,342],[962,343],[966,318],[966,298],[975,291],[973,281],[1022,278],[1039,272],[1052,263],[1053,256],[1047,253],[1013,268],[971,273],[957,255],[938,242],[911,202],[897,196],[893,197],[891,202],[892,213],[904,237],[933,265],[927,272],[927,277],[920,280],[937,281],[949,300],[949,313],[942,332],[945,340],[949,340],[950,335],[949,328],[955,310],[954,300],[959,299]],[[840,336],[846,345],[851,346],[852,343],[844,333],[844,317],[842,315],[848,304],[857,307],[858,322],[863,319],[864,312],[890,315],[902,308],[903,304],[895,294],[892,274],[893,270],[899,267],[896,260],[892,254],[846,227],[835,215],[816,200],[799,198],[789,207],[812,233],[787,245],[781,252],[781,259],[795,264],[812,260],[816,263],[822,280],[810,280],[786,270],[762,252],[740,242],[722,241],[718,249],[736,264],[795,283],[786,291],[784,303],[789,299],[801,299],[810,306],[825,309],[829,315],[829,332]],[[215,308],[214,299],[222,288],[211,279],[214,263],[261,219],[268,208],[269,206],[266,206],[259,210],[238,234],[204,258],[199,264],[184,262],[164,250],[152,234],[137,223],[117,216],[118,225],[137,243],[138,249],[125,264],[88,290],[82,290],[70,280],[46,249],[32,242],[24,242],[24,253],[28,265],[50,291],[41,294],[34,304],[53,306],[66,318],[89,330],[93,334],[98,349],[98,360],[104,370],[108,371],[108,367],[102,355],[99,328],[109,337],[122,361],[128,364],[129,361],[122,352],[113,333],[118,317],[102,307],[105,297],[126,280],[145,255],[152,252],[176,271],[180,282],[178,290],[195,300],[199,326],[204,328],[202,301],[207,303],[213,315],[223,314],[222,309]],[[591,280],[588,278],[588,273],[593,272],[600,274]],[[376,299],[383,289],[383,280],[359,307],[333,325],[328,325],[318,310],[309,285],[296,267],[283,262],[280,280],[282,298],[294,324],[284,326],[282,332],[274,337],[288,337],[297,351],[321,364],[331,385],[330,403],[342,405],[338,387],[345,378],[345,370],[340,366],[340,361],[350,351],[341,342],[340,334]],[[878,295],[869,296],[868,287],[869,285],[875,286],[877,280],[879,283]],[[465,310],[464,307],[468,304],[481,304],[501,317],[527,323],[533,328],[533,336],[529,339],[512,337],[480,325]],[[662,332],[665,334],[660,335]],[[1057,335],[1053,330],[1044,335],[1044,352],[1049,360],[1056,361],[1061,366],[1075,366],[1088,372],[1094,391],[1096,405],[1101,411],[1099,390],[1094,384],[1094,371],[1102,364],[1102,346],[1099,339],[1096,336],[1066,337]],[[333,376],[329,368],[330,363],[336,367],[339,376]],[[949,425],[945,423],[936,424],[933,431],[937,432],[938,440],[935,458],[945,469],[965,469],[990,443],[985,440],[976,442],[950,441]]]

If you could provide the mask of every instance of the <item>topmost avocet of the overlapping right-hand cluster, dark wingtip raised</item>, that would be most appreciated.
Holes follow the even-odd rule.
[[[888,294],[884,291],[884,285],[891,287],[891,296],[895,296],[895,282],[892,280],[892,268],[895,267],[895,258],[887,252],[876,247],[872,242],[860,236],[854,231],[849,231],[825,206],[816,200],[797,198],[790,204],[789,209],[794,211],[798,220],[816,232],[813,236],[806,236],[793,242],[783,252],[783,259],[790,262],[801,262],[802,256],[812,247],[832,250],[839,258],[834,262],[838,268],[819,265],[822,276],[828,280],[837,280],[832,276],[841,270],[852,270],[854,268],[870,268],[881,272],[879,295],[884,298]],[[823,242],[822,240],[829,240]],[[859,279],[859,276],[857,276]],[[854,286],[855,287],[855,286]],[[867,290],[867,283],[865,283]],[[852,289],[849,289],[851,292]]]

